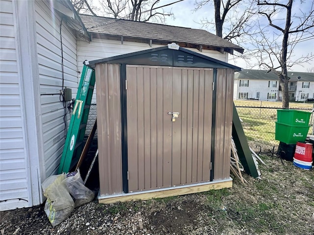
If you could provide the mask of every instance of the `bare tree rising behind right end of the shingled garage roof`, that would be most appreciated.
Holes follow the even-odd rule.
[[[195,11],[206,7],[213,9],[214,17],[201,20],[203,27],[214,29],[216,35],[243,47],[244,53],[235,51],[235,56],[231,57],[236,63],[236,59],[244,59],[246,67],[253,67],[250,60],[251,37],[256,35],[256,22],[258,18],[256,1],[252,0],[195,0]]]

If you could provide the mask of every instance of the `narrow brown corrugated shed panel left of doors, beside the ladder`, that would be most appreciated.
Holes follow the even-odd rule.
[[[100,194],[122,193],[120,67],[97,64]]]

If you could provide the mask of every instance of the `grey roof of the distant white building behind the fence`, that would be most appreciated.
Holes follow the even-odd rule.
[[[289,81],[304,81],[314,82],[313,72],[295,72],[288,71]],[[298,79],[298,77],[300,77]],[[235,72],[235,79],[248,80],[278,80],[278,76],[274,72],[267,72],[266,70],[243,70]]]

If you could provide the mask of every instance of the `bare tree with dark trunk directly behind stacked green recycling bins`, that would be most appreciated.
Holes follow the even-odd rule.
[[[292,3],[293,0],[288,0],[287,4],[278,3],[276,0],[273,2],[258,0],[259,14],[266,17],[268,25],[262,26],[260,24],[261,38],[255,38],[257,46],[255,54],[258,55],[260,66],[278,75],[282,85],[283,108],[289,107],[288,69],[294,65],[309,62],[314,58],[314,55],[306,54],[293,59],[295,46],[314,36],[314,7],[312,3],[312,7],[307,13],[300,11],[300,14],[294,13],[292,15]],[[286,12],[286,17],[283,24],[278,19],[282,19],[284,12]],[[271,31],[267,30],[269,26]],[[272,37],[269,36],[269,33]]]

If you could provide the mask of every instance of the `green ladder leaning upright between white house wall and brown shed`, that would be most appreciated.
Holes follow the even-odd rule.
[[[86,66],[84,63],[58,174],[69,172],[69,170],[78,162],[78,158],[83,148],[86,123],[92,101],[94,85],[95,70]]]

